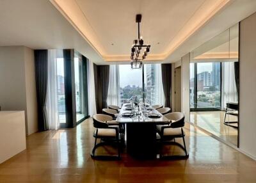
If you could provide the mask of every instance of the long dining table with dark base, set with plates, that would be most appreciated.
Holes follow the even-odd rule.
[[[127,154],[138,159],[157,158],[156,125],[168,125],[168,118],[150,106],[141,109],[139,106],[124,104],[116,122],[125,126]]]

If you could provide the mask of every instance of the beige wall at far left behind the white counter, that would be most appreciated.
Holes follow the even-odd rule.
[[[0,47],[0,106],[3,111],[25,111],[26,134],[37,131],[33,50]]]

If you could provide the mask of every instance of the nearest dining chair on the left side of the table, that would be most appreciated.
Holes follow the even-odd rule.
[[[113,120],[112,116],[97,114],[93,115],[93,127],[96,130],[93,132],[95,138],[94,147],[91,152],[93,159],[120,159],[120,138],[119,138],[119,126],[109,125],[108,122]],[[97,139],[100,139],[100,143],[97,143]],[[95,155],[95,150],[98,147],[104,145],[117,145],[118,155]]]

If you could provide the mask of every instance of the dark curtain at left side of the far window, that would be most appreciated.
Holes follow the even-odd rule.
[[[95,80],[95,97],[97,113],[102,113],[107,108],[109,65],[93,65]]]

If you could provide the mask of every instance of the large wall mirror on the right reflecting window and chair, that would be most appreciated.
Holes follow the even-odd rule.
[[[190,121],[238,146],[239,24],[191,52]]]

